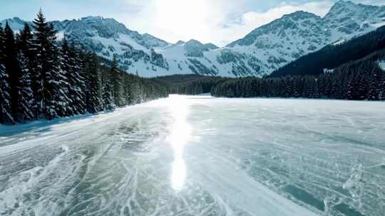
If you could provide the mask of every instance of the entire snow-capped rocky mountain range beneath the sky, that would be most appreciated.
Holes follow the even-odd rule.
[[[16,31],[24,23],[19,18],[6,21]],[[120,68],[144,77],[187,73],[262,76],[324,45],[343,43],[384,25],[385,6],[338,1],[324,17],[297,11],[256,28],[224,48],[195,40],[168,43],[100,16],[53,24],[59,39],[66,35],[104,58],[115,55]]]

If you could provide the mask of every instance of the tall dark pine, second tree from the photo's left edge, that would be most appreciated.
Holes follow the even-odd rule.
[[[9,87],[10,87],[10,98],[11,98],[11,114],[14,119],[17,121],[19,117],[17,116],[18,112],[18,99],[19,99],[19,77],[20,77],[20,67],[17,60],[17,48],[14,37],[14,31],[12,31],[8,22],[4,28],[5,36],[5,68],[6,73],[9,76]]]

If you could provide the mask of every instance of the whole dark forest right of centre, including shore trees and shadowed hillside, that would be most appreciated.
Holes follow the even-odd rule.
[[[159,78],[172,83],[170,92],[187,95],[211,92],[217,97],[383,100],[385,68],[380,68],[379,62],[384,60],[385,26],[339,45],[327,45],[263,78]]]

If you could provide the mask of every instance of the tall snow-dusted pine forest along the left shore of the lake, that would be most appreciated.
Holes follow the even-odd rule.
[[[158,82],[110,67],[71,45],[39,11],[33,25],[14,33],[0,25],[0,124],[112,111],[167,97]]]

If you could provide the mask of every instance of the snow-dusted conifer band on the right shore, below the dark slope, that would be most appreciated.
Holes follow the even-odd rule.
[[[384,58],[385,50],[381,50],[322,75],[229,79],[212,86],[211,94],[215,97],[385,100],[385,72],[379,66],[379,60]]]

